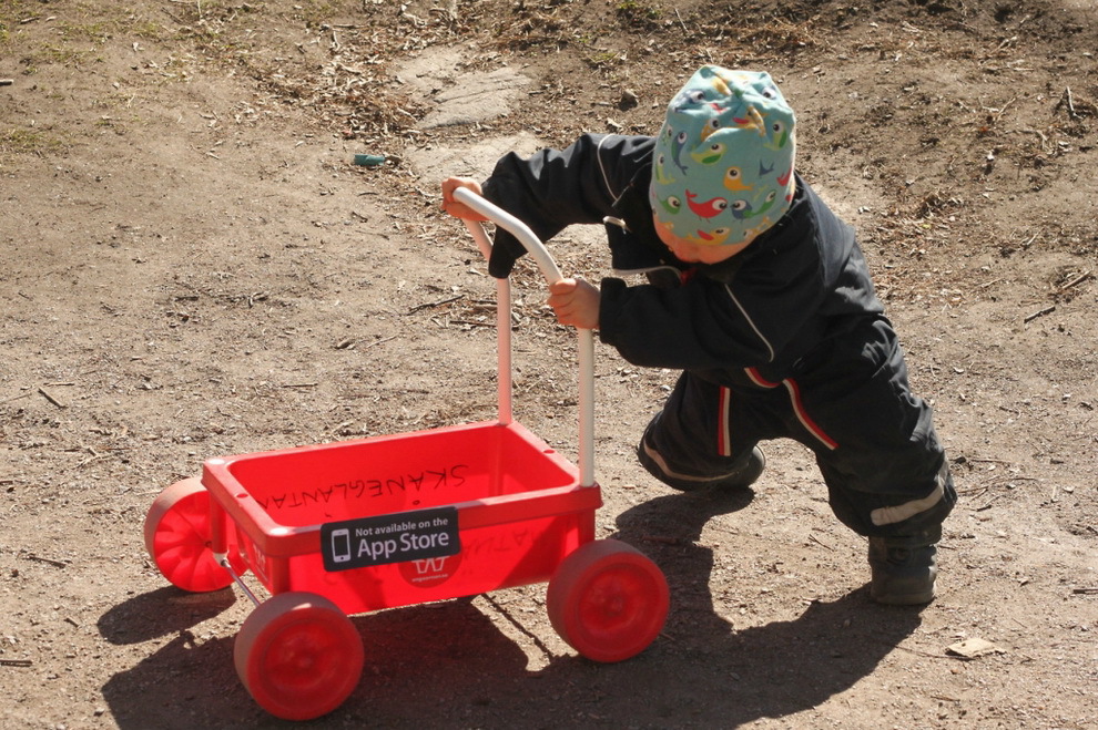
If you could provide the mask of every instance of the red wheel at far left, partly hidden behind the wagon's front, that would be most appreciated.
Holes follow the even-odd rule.
[[[167,580],[184,590],[220,590],[233,576],[217,564],[210,548],[210,493],[197,477],[161,492],[145,515],[145,549]],[[237,574],[243,562],[230,551]]]

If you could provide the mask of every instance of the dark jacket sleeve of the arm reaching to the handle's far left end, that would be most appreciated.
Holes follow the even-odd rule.
[[[529,158],[512,152],[485,181],[485,197],[548,240],[572,224],[602,223],[651,146],[650,137],[587,134],[565,150]],[[519,246],[506,230],[496,233],[500,243]]]

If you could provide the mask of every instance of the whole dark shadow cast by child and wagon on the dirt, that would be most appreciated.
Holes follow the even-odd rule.
[[[871,675],[919,625],[915,609],[880,607],[864,590],[814,602],[791,620],[735,629],[709,595],[712,549],[698,544],[705,523],[742,510],[751,492],[674,495],[623,513],[616,537],[649,554],[671,584],[668,628],[628,661],[600,665],[551,656],[539,639],[543,617],[492,606],[527,634],[530,658],[472,599],[353,618],[366,664],[354,693],[333,713],[305,723],[271,717],[233,667],[233,637],[195,640],[191,629],[232,605],[209,605],[165,588],[136,596],[100,621],[115,644],[170,637],[114,675],[103,695],[120,728],[734,728],[816,707]],[[164,609],[167,605],[169,609]],[[529,602],[515,602],[529,610]],[[135,616],[160,615],[128,627]],[[498,620],[498,619],[497,619]],[[120,628],[126,627],[126,628]],[[529,647],[528,647],[529,648]]]

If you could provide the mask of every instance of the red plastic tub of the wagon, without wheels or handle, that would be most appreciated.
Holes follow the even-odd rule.
[[[602,504],[543,441],[496,421],[213,459],[202,484],[215,553],[235,544],[271,593],[316,593],[347,614],[546,582],[593,539]],[[423,518],[433,507],[456,511],[460,552],[387,562],[447,535]],[[325,569],[323,524],[380,516],[392,528],[348,528],[339,547],[348,563],[385,562]]]

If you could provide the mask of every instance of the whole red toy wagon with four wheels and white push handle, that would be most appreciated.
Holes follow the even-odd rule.
[[[561,278],[521,222],[469,193],[551,282]],[[491,244],[468,223],[480,250]],[[620,661],[667,618],[659,567],[594,538],[593,338],[579,331],[579,467],[511,418],[510,289],[498,281],[496,420],[211,459],[164,490],[145,546],[175,586],[234,582],[256,605],[234,644],[236,670],[268,712],[325,714],[357,687],[362,638],[348,615],[548,582],[549,619],[579,654]],[[260,600],[251,570],[271,593]]]

